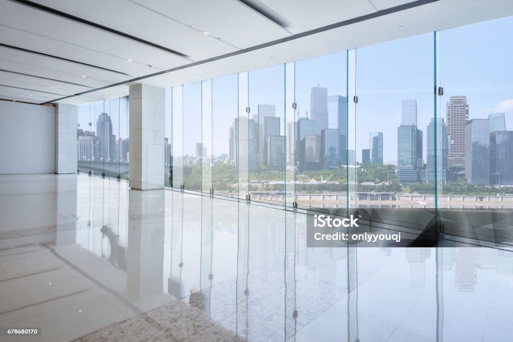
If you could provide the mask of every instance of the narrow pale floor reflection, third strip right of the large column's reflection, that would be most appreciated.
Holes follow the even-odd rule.
[[[236,333],[248,337],[249,204],[239,202],[237,246]]]

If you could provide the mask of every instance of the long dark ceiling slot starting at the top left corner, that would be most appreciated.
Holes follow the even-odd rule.
[[[103,26],[103,25],[100,25],[100,24],[97,24],[97,23],[94,23],[94,22],[90,22],[90,21],[88,21],[88,20],[86,20],[84,18],[81,18],[81,17],[78,17],[78,16],[74,16],[72,14],[69,14],[69,13],[66,13],[66,12],[63,12],[63,11],[59,11],[59,10],[56,10],[54,8],[51,8],[51,7],[47,7],[47,6],[44,6],[44,5],[41,5],[41,4],[37,4],[37,3],[34,3],[32,1],[28,1],[28,0],[10,0],[10,1],[12,1],[14,3],[21,4],[21,5],[25,5],[25,6],[28,6],[28,7],[32,7],[32,8],[35,8],[35,9],[38,9],[40,11],[47,12],[47,13],[50,13],[50,14],[53,14],[53,15],[57,15],[57,16],[69,19],[69,20],[77,22],[77,23],[81,23],[81,24],[84,24],[84,25],[88,25],[88,26],[91,26],[91,27],[103,30],[103,31],[107,31],[107,32],[110,32],[110,33],[122,36],[124,38],[131,39],[132,41],[139,42],[139,43],[151,46],[153,48],[156,48],[156,49],[159,49],[159,50],[163,50],[163,51],[172,53],[172,54],[174,54],[176,56],[183,57],[185,59],[188,59],[189,61],[192,61],[192,58],[190,56],[186,55],[185,53],[181,53],[181,52],[178,52],[178,51],[166,48],[165,46],[162,46],[162,45],[159,45],[159,44],[155,44],[155,43],[146,41],[145,39],[133,36],[133,35],[125,33],[125,32],[114,30],[113,28],[110,28],[110,27],[107,27],[107,26]]]

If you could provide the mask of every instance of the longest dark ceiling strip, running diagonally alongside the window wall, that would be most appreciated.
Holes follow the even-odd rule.
[[[401,11],[404,11],[404,10],[407,10],[407,9],[419,7],[419,6],[426,5],[426,4],[436,3],[438,1],[440,1],[440,0],[417,0],[417,1],[413,1],[411,3],[407,3],[407,4],[403,4],[403,5],[399,5],[399,6],[394,6],[394,7],[390,7],[390,8],[378,11],[378,12],[365,14],[365,15],[358,16],[358,17],[352,18],[352,19],[347,19],[346,21],[343,21],[343,22],[340,22],[340,23],[335,23],[335,24],[327,25],[327,26],[320,27],[320,28],[317,28],[317,29],[313,29],[313,30],[310,30],[310,31],[305,31],[305,32],[297,33],[297,34],[294,34],[294,35],[291,35],[291,36],[288,36],[288,37],[277,39],[275,41],[271,41],[271,42],[255,45],[255,46],[252,46],[252,47],[249,47],[249,48],[246,48],[246,49],[242,49],[242,50],[226,53],[224,55],[219,55],[219,56],[203,59],[202,61],[198,61],[198,62],[194,62],[194,63],[189,63],[189,64],[186,64],[186,65],[182,65],[180,67],[175,67],[175,68],[171,68],[171,69],[168,69],[168,70],[163,70],[163,71],[155,72],[155,73],[148,74],[148,75],[145,75],[145,76],[135,77],[135,78],[132,78],[132,79],[128,79],[127,81],[118,82],[118,83],[114,83],[114,84],[111,84],[111,85],[108,85],[108,86],[104,86],[104,87],[100,87],[100,88],[96,88],[96,89],[92,89],[92,90],[83,91],[81,93],[76,93],[75,95],[70,95],[70,96],[66,96],[66,97],[56,98],[56,99],[54,99],[52,101],[45,102],[43,104],[60,101],[60,100],[63,100],[63,99],[69,98],[69,97],[73,97],[73,96],[84,95],[84,94],[91,93],[91,92],[97,91],[97,90],[103,90],[103,89],[107,89],[107,88],[111,88],[111,87],[122,86],[122,85],[125,85],[127,83],[141,81],[142,79],[145,79],[145,78],[159,76],[159,75],[167,74],[169,72],[173,72],[173,71],[177,71],[177,70],[183,70],[183,69],[195,67],[197,65],[202,65],[202,64],[206,64],[206,63],[210,63],[210,62],[214,62],[214,61],[219,61],[220,59],[237,56],[237,55],[248,53],[248,52],[255,51],[255,50],[264,49],[264,48],[267,48],[267,47],[270,47],[270,46],[274,46],[274,45],[290,42],[290,41],[293,41],[295,39],[307,37],[307,36],[310,36],[310,35],[313,35],[313,34],[317,34],[317,33],[325,32],[325,31],[337,29],[337,28],[340,28],[340,27],[343,27],[343,26],[348,26],[348,25],[351,25],[351,24],[361,23],[361,22],[367,21],[369,19],[379,18],[381,16],[385,16],[385,15],[388,15],[388,14],[401,12]]]

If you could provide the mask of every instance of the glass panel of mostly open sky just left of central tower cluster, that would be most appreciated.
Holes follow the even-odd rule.
[[[234,125],[238,110],[238,77],[212,79],[212,189],[214,194],[237,196]]]

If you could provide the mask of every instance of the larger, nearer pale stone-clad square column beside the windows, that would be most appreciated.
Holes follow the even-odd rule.
[[[164,88],[130,86],[130,187],[164,188]]]

